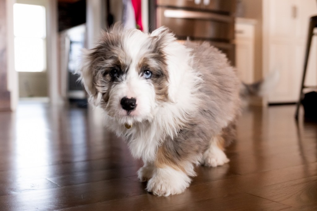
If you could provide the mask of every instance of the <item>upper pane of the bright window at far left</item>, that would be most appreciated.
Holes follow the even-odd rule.
[[[13,17],[15,36],[46,37],[45,7],[15,3]]]

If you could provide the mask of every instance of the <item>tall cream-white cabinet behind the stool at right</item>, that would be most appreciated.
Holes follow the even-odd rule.
[[[269,103],[298,100],[310,16],[317,15],[316,0],[263,1],[263,72],[279,71],[280,80]],[[317,84],[317,42],[314,38],[306,85]]]

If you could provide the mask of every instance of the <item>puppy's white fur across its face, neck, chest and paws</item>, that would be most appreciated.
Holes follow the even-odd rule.
[[[90,102],[101,106],[107,113],[107,128],[118,136],[126,138],[133,157],[141,158],[145,163],[138,171],[138,178],[140,181],[148,181],[146,190],[154,195],[180,194],[190,185],[190,176],[196,176],[194,165],[202,162],[202,157],[205,165],[208,166],[223,165],[229,162],[224,152],[214,142],[204,155],[199,152],[192,156],[191,162],[182,162],[181,168],[184,171],[168,166],[156,168],[154,165],[158,147],[163,144],[164,140],[174,140],[179,131],[185,128],[184,126],[188,127],[191,115],[198,113],[199,105],[204,104],[202,99],[208,98],[202,97],[204,93],[199,91],[203,83],[200,69],[197,67],[199,65],[193,65],[192,49],[176,42],[174,35],[166,32],[164,27],[153,31],[152,34],[144,34],[138,30],[127,30],[122,33],[123,39],[120,48],[124,48],[124,53],[120,51],[122,54],[119,53],[118,57],[124,54],[122,57],[126,57],[125,62],[129,63],[125,77],[120,78],[120,81],[117,81],[113,87],[102,83],[99,86],[96,85],[99,90],[102,89],[97,91],[90,69],[91,61],[87,56],[92,51],[87,51],[84,54],[86,57],[84,57],[81,71],[82,82],[90,96]],[[138,70],[139,61],[148,54],[149,47],[151,47],[152,43],[149,40],[154,39],[164,41],[161,47],[169,80],[168,100],[165,101],[156,99],[155,87],[142,74],[139,74]],[[210,51],[210,48],[208,49]],[[107,93],[109,99],[103,101],[102,93]],[[124,97],[136,99],[137,106],[128,115],[120,105],[120,100]],[[213,97],[217,98],[217,95]],[[210,105],[213,105],[214,102],[216,104],[214,107],[219,108],[216,101],[211,99],[210,101]],[[233,105],[235,103],[226,103],[229,105],[226,106],[227,110],[223,111],[226,115],[217,119],[218,131],[227,126],[228,122],[236,116]],[[227,114],[228,112],[229,114]],[[125,124],[133,126],[131,129],[126,129]]]

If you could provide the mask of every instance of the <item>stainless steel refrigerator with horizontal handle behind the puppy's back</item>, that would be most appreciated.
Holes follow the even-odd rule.
[[[236,0],[150,1],[150,30],[170,28],[180,40],[207,40],[227,54],[234,65]]]

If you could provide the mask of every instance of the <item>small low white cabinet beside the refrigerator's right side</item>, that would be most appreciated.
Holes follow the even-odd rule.
[[[253,19],[236,18],[236,68],[245,83],[254,82],[255,24]]]

